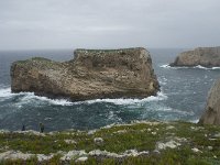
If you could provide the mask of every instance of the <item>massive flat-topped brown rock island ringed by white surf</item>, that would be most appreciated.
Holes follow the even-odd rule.
[[[145,48],[76,50],[73,61],[35,57],[11,66],[13,92],[32,91],[73,101],[98,98],[145,98],[158,81]]]

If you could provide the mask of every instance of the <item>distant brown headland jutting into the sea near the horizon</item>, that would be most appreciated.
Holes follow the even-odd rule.
[[[219,47],[199,47],[194,51],[183,52],[176,57],[170,66],[220,66],[220,46]]]

